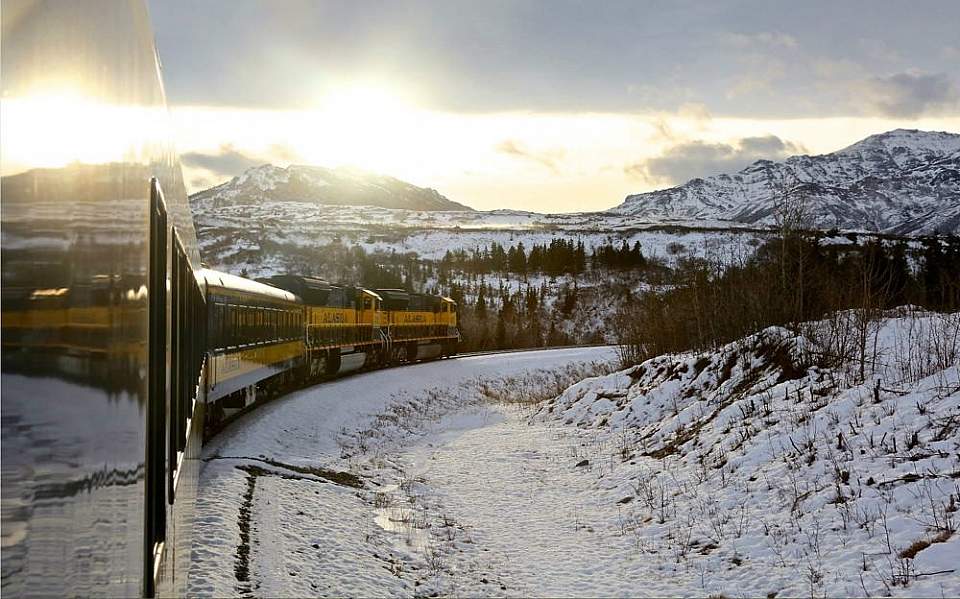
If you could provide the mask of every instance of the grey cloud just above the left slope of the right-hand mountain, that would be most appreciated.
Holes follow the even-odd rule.
[[[677,185],[696,177],[736,172],[757,160],[782,160],[804,152],[802,145],[776,135],[744,137],[731,143],[694,140],[627,165],[624,172],[647,183]]]

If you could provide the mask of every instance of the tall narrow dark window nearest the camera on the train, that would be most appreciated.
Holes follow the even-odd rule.
[[[166,538],[166,488],[163,484],[167,394],[167,209],[156,179],[150,180],[148,304],[148,409],[144,492],[145,594],[152,596],[153,554]]]

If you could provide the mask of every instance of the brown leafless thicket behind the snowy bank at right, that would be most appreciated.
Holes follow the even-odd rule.
[[[617,330],[624,361],[715,348],[771,325],[840,310],[875,317],[904,304],[960,310],[960,238],[826,243],[818,232],[771,239],[732,265],[683,259],[659,293],[627,294]]]

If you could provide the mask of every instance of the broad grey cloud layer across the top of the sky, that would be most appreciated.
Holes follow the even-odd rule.
[[[852,115],[859,79],[955,69],[943,48],[960,21],[955,0],[148,3],[171,104],[277,109],[368,80],[456,112],[703,102],[717,116]],[[817,65],[831,60],[857,70],[818,88]]]

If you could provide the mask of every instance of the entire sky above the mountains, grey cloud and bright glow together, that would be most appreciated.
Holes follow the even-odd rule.
[[[478,209],[960,133],[960,2],[149,0],[190,191],[349,166]]]

